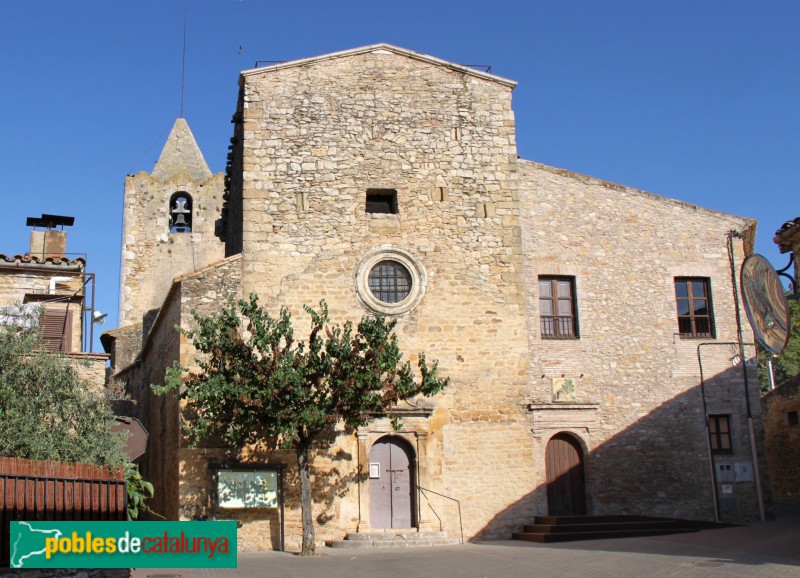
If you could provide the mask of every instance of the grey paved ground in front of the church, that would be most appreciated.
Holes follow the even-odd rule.
[[[323,548],[313,558],[241,553],[229,570],[137,570],[134,578],[367,577],[505,578],[605,576],[800,577],[800,508],[746,527],[653,538],[545,545],[492,541],[462,546],[354,551]]]

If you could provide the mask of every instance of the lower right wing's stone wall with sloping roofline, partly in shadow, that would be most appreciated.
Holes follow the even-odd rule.
[[[544,459],[552,434],[572,431],[590,452],[591,511],[713,518],[698,345],[709,344],[701,348],[707,413],[733,422],[734,453],[716,459],[751,462],[743,374],[731,364],[738,347],[726,243],[728,231],[754,222],[536,163],[521,161],[520,170],[531,397],[542,404],[540,421],[556,415],[554,381],[572,378],[574,402],[593,414],[556,418],[547,429],[534,416],[534,460]],[[734,247],[741,264],[742,241]],[[577,339],[542,339],[540,275],[574,278]],[[710,279],[715,338],[679,334],[679,276]],[[745,341],[753,341],[749,327]],[[748,377],[760,432],[758,381]],[[753,483],[726,497],[738,501],[726,519],[758,517]]]

